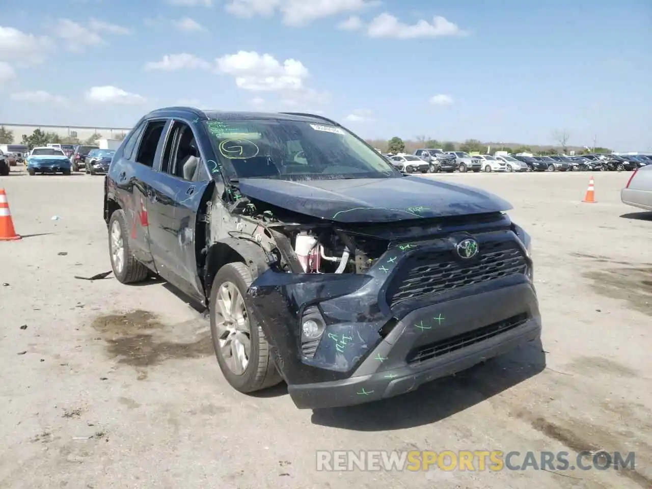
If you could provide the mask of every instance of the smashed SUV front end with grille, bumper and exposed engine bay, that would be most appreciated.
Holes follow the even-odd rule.
[[[209,241],[240,244],[248,311],[299,408],[408,392],[540,333],[529,237],[504,212],[336,222],[237,186],[220,199],[231,204],[209,205]],[[471,237],[482,252],[460,258]],[[469,348],[480,353],[453,353]]]

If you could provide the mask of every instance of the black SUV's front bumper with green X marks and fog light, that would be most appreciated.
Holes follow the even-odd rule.
[[[520,241],[511,231],[475,237],[486,250],[497,237],[512,241],[509,259],[520,263],[518,272],[483,281],[447,278],[436,293],[406,295],[396,286],[406,263],[424,252],[443,254],[457,242],[439,239],[390,248],[366,275],[259,276],[246,301],[296,406],[350,406],[407,393],[539,338],[531,261]],[[483,260],[483,270],[494,267]],[[306,354],[299,324],[306,306],[316,305],[327,326]]]

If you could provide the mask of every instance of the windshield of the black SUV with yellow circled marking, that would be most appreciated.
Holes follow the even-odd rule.
[[[240,178],[349,179],[401,177],[385,159],[348,130],[288,120],[204,123],[218,162]],[[419,160],[417,156],[406,156]]]

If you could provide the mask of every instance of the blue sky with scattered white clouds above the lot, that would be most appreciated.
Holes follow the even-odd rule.
[[[0,122],[323,113],[365,138],[652,149],[649,0],[2,0]]]

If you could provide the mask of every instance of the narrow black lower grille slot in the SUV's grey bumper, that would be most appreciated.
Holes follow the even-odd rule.
[[[481,341],[488,340],[489,338],[494,338],[494,336],[498,336],[499,334],[506,333],[511,329],[523,325],[526,323],[527,319],[527,314],[518,314],[517,316],[512,316],[511,318],[505,319],[504,321],[490,324],[480,329],[474,329],[468,333],[458,334],[458,336],[453,336],[452,338],[446,338],[445,340],[441,340],[436,343],[430,343],[428,345],[421,346],[408,355],[407,361],[408,363],[419,363],[441,357],[441,355],[451,353],[451,351],[466,348],[467,346],[471,346]]]

